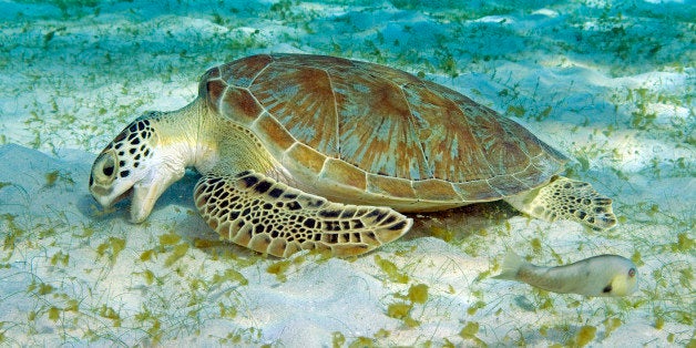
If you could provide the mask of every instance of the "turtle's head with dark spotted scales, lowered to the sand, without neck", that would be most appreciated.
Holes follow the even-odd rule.
[[[149,112],[129,124],[94,160],[90,192],[109,207],[130,196],[131,221],[143,222],[160,195],[185,172],[161,146],[160,112]]]

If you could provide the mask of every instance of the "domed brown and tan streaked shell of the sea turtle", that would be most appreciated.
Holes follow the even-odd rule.
[[[311,182],[303,188],[351,203],[408,212],[494,201],[544,185],[566,161],[451,89],[367,62],[254,55],[208,70],[199,93]]]

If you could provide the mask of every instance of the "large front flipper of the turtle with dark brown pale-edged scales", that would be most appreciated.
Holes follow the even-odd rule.
[[[332,203],[254,172],[207,174],[196,184],[194,198],[223,238],[278,257],[315,248],[358,255],[412,225],[391,208]]]

